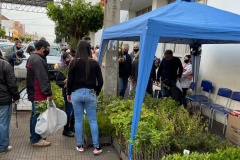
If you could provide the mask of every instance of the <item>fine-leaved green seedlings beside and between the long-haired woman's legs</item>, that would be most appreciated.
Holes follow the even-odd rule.
[[[97,113],[99,137],[110,137],[114,133],[114,126],[111,125],[108,117],[102,113]],[[87,116],[84,118],[84,131],[88,137],[92,137]]]

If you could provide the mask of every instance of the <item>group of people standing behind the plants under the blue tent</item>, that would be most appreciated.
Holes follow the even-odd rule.
[[[129,94],[136,91],[139,65],[139,44],[133,46],[133,51],[128,54],[129,45],[124,44],[122,48],[123,57],[119,57],[119,81],[120,96],[125,97],[129,83]],[[148,80],[146,92],[153,96],[153,84],[159,86],[161,82],[161,97],[167,99],[172,97],[180,105],[186,105],[185,96],[192,82],[191,55],[184,57],[184,64],[178,57],[173,56],[173,51],[166,50],[162,61],[155,57]],[[176,84],[179,83],[181,87]]]

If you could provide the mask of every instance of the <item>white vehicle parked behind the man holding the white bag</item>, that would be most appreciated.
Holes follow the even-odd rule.
[[[26,58],[23,58],[22,64],[20,64],[19,66],[14,66],[14,73],[16,77],[26,78],[26,73],[27,73],[26,63],[27,63],[28,57],[30,56],[26,51],[29,45],[34,47],[34,43],[32,42],[29,43],[24,50],[24,55],[26,56]],[[51,80],[56,80],[58,68],[61,65],[60,59],[61,59],[60,46],[56,43],[50,44],[50,53],[47,56],[47,64],[48,64],[49,77]]]

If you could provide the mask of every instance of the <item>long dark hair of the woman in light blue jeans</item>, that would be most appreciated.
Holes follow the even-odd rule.
[[[91,54],[91,46],[87,41],[79,41],[77,46],[77,55],[75,56],[74,60],[70,63],[69,72],[72,71],[77,62],[78,58],[82,59],[85,62],[86,66],[86,80],[88,80],[88,75],[90,72],[90,65],[89,65],[89,56]]]

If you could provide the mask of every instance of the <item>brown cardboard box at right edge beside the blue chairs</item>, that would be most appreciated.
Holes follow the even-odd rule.
[[[226,138],[240,145],[240,118],[228,115]]]

